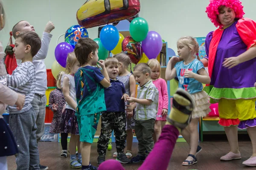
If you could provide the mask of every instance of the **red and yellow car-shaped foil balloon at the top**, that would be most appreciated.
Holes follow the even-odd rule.
[[[140,0],[85,0],[76,13],[85,28],[126,20],[140,12]]]

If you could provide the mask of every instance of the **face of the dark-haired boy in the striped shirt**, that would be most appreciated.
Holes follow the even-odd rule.
[[[25,57],[27,50],[28,50],[28,45],[23,44],[21,38],[17,38],[15,40],[15,47],[13,48],[15,58],[23,59]]]

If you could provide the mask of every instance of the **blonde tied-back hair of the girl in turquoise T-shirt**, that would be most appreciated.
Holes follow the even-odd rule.
[[[197,56],[197,59],[200,60],[199,57],[199,45],[198,42],[193,37],[181,37],[177,42],[180,42],[182,45],[187,46],[192,50],[192,55]]]

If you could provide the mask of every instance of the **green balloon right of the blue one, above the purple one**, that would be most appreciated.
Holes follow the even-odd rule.
[[[141,17],[134,18],[130,24],[130,34],[135,41],[143,41],[148,34],[148,22]]]

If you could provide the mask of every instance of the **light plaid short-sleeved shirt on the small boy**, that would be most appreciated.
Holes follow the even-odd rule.
[[[158,90],[156,86],[153,84],[152,80],[149,80],[142,87],[139,86],[137,92],[137,99],[149,99],[153,102],[151,103],[151,105],[142,105],[137,103],[134,119],[156,119],[158,111]]]

